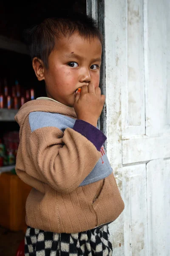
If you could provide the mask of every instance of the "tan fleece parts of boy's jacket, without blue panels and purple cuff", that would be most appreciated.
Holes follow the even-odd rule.
[[[16,172],[32,186],[26,201],[26,224],[56,233],[78,233],[114,221],[124,203],[113,174],[79,186],[101,157],[87,138],[66,128],[43,127],[31,132],[29,114],[59,113],[77,119],[74,108],[33,100],[15,116],[20,125]]]

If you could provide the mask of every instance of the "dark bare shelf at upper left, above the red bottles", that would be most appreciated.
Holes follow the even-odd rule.
[[[7,38],[6,36],[0,35],[0,49],[6,49],[21,54],[29,55],[27,47],[20,41]]]

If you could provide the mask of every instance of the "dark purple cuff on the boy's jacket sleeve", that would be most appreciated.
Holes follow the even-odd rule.
[[[107,139],[107,137],[98,128],[80,119],[76,120],[73,129],[90,140],[98,151],[100,151],[102,145]]]

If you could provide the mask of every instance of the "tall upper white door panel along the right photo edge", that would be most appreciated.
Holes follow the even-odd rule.
[[[170,29],[168,18],[170,4],[168,0],[148,0],[147,13],[147,72],[146,84],[146,134],[148,136],[162,135],[170,132],[167,122],[167,96],[169,102],[169,39]],[[167,65],[168,64],[168,65]],[[168,89],[167,89],[168,88]],[[168,93],[167,93],[168,91]]]

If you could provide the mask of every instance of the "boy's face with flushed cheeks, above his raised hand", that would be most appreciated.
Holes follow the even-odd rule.
[[[102,45],[98,38],[78,34],[57,40],[44,69],[47,96],[73,107],[76,90],[89,83],[99,86]]]

